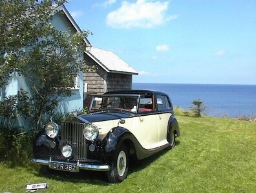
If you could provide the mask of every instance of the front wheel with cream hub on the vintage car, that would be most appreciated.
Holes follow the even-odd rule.
[[[107,172],[107,178],[111,183],[122,182],[128,174],[129,154],[125,145],[121,145],[111,164],[111,169]]]

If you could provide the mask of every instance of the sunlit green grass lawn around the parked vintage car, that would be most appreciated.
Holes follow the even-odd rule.
[[[104,173],[54,172],[36,165],[0,164],[0,192],[25,192],[28,183],[47,182],[40,192],[255,192],[256,122],[178,116],[182,136],[175,149],[130,165],[129,176],[109,184]]]

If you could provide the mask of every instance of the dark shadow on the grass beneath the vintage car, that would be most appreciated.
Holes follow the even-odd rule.
[[[179,142],[176,141],[176,145],[179,145]],[[129,172],[128,175],[133,174],[133,172],[138,172],[140,170],[145,169],[154,161],[158,160],[161,156],[166,154],[168,149],[164,149],[149,158],[145,158],[144,160],[136,160],[134,158],[129,160]],[[50,170],[49,174],[43,174],[40,172],[39,165],[32,165],[28,167],[30,172],[34,173],[37,177],[44,177],[56,181],[63,181],[69,183],[89,183],[91,185],[110,185],[107,174],[105,172],[91,171],[91,170],[80,170],[80,172],[65,172],[59,170]]]

